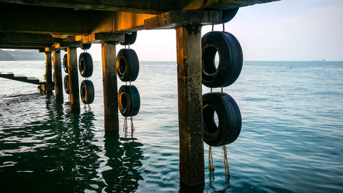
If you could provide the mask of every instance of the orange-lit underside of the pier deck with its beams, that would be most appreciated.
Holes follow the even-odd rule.
[[[95,34],[122,40],[113,33],[222,23],[225,10],[270,1],[0,1],[0,47],[78,47]]]

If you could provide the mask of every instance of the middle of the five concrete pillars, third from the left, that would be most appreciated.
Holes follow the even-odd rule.
[[[69,99],[71,112],[80,112],[80,90],[78,78],[78,56],[75,47],[67,48],[68,57],[68,83],[69,83]]]

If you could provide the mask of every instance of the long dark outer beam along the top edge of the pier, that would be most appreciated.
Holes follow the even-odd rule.
[[[0,2],[40,5],[56,8],[73,8],[77,10],[102,10],[137,12],[144,14],[161,14],[171,10],[227,10],[255,3],[268,3],[277,0],[0,0]]]

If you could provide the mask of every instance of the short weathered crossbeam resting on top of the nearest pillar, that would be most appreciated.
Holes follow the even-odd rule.
[[[210,25],[222,22],[221,11],[187,10],[159,14],[144,21],[145,29],[171,29],[181,25]]]

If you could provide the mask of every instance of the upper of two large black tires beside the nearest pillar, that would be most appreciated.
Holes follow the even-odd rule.
[[[220,62],[215,66],[215,53]],[[209,88],[229,86],[241,73],[243,53],[238,40],[226,31],[210,31],[202,36],[202,83]]]

